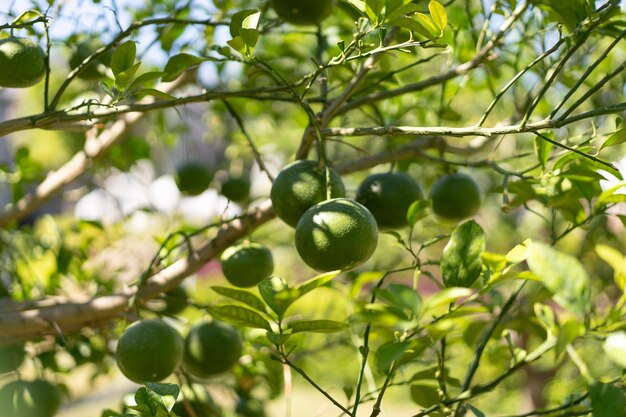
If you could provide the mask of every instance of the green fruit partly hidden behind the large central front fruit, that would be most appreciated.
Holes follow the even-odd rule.
[[[330,169],[331,198],[345,197],[346,188],[337,172]],[[278,174],[270,192],[276,215],[291,227],[309,208],[326,200],[326,175],[316,161],[295,161]]]

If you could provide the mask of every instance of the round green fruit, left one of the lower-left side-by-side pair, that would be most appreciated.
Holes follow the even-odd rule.
[[[159,319],[130,326],[117,344],[117,365],[133,382],[158,382],[170,376],[183,357],[183,339]]]

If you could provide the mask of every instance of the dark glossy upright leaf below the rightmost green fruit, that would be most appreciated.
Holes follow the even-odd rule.
[[[457,227],[441,256],[441,274],[446,287],[470,287],[480,276],[486,238],[474,220]]]

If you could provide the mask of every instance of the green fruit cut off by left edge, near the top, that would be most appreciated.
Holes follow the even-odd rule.
[[[24,88],[37,84],[46,72],[46,54],[30,38],[0,40],[0,87]]]

